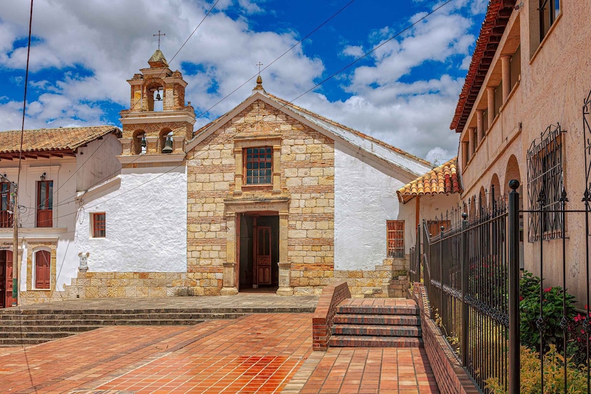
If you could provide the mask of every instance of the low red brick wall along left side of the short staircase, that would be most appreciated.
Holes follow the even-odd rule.
[[[330,331],[336,307],[346,298],[351,298],[347,282],[336,282],[322,289],[312,317],[313,350],[326,351],[329,348]]]

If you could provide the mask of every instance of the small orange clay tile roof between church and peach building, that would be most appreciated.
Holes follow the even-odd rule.
[[[458,158],[455,157],[407,183],[396,190],[396,194],[398,200],[405,203],[418,195],[461,193],[462,191],[462,183],[458,176]]]

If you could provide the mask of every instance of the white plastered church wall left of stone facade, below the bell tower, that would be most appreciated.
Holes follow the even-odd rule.
[[[91,192],[76,230],[89,271],[186,272],[186,166],[123,169],[120,182]],[[96,212],[106,213],[105,238],[91,237]]]

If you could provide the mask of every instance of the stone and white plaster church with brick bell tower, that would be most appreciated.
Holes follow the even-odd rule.
[[[430,163],[267,93],[260,76],[193,131],[181,73],[160,50],[148,63],[128,79],[121,171],[76,191],[80,266],[57,267],[52,298],[320,294],[335,280],[402,295],[414,228],[396,190]]]

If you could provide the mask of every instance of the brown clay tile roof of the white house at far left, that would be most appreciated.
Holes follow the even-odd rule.
[[[114,133],[121,137],[121,130],[115,126],[87,126],[69,128],[39,128],[24,130],[22,152],[24,157],[74,156],[75,150],[95,139]],[[21,130],[0,132],[0,160],[18,158]]]

